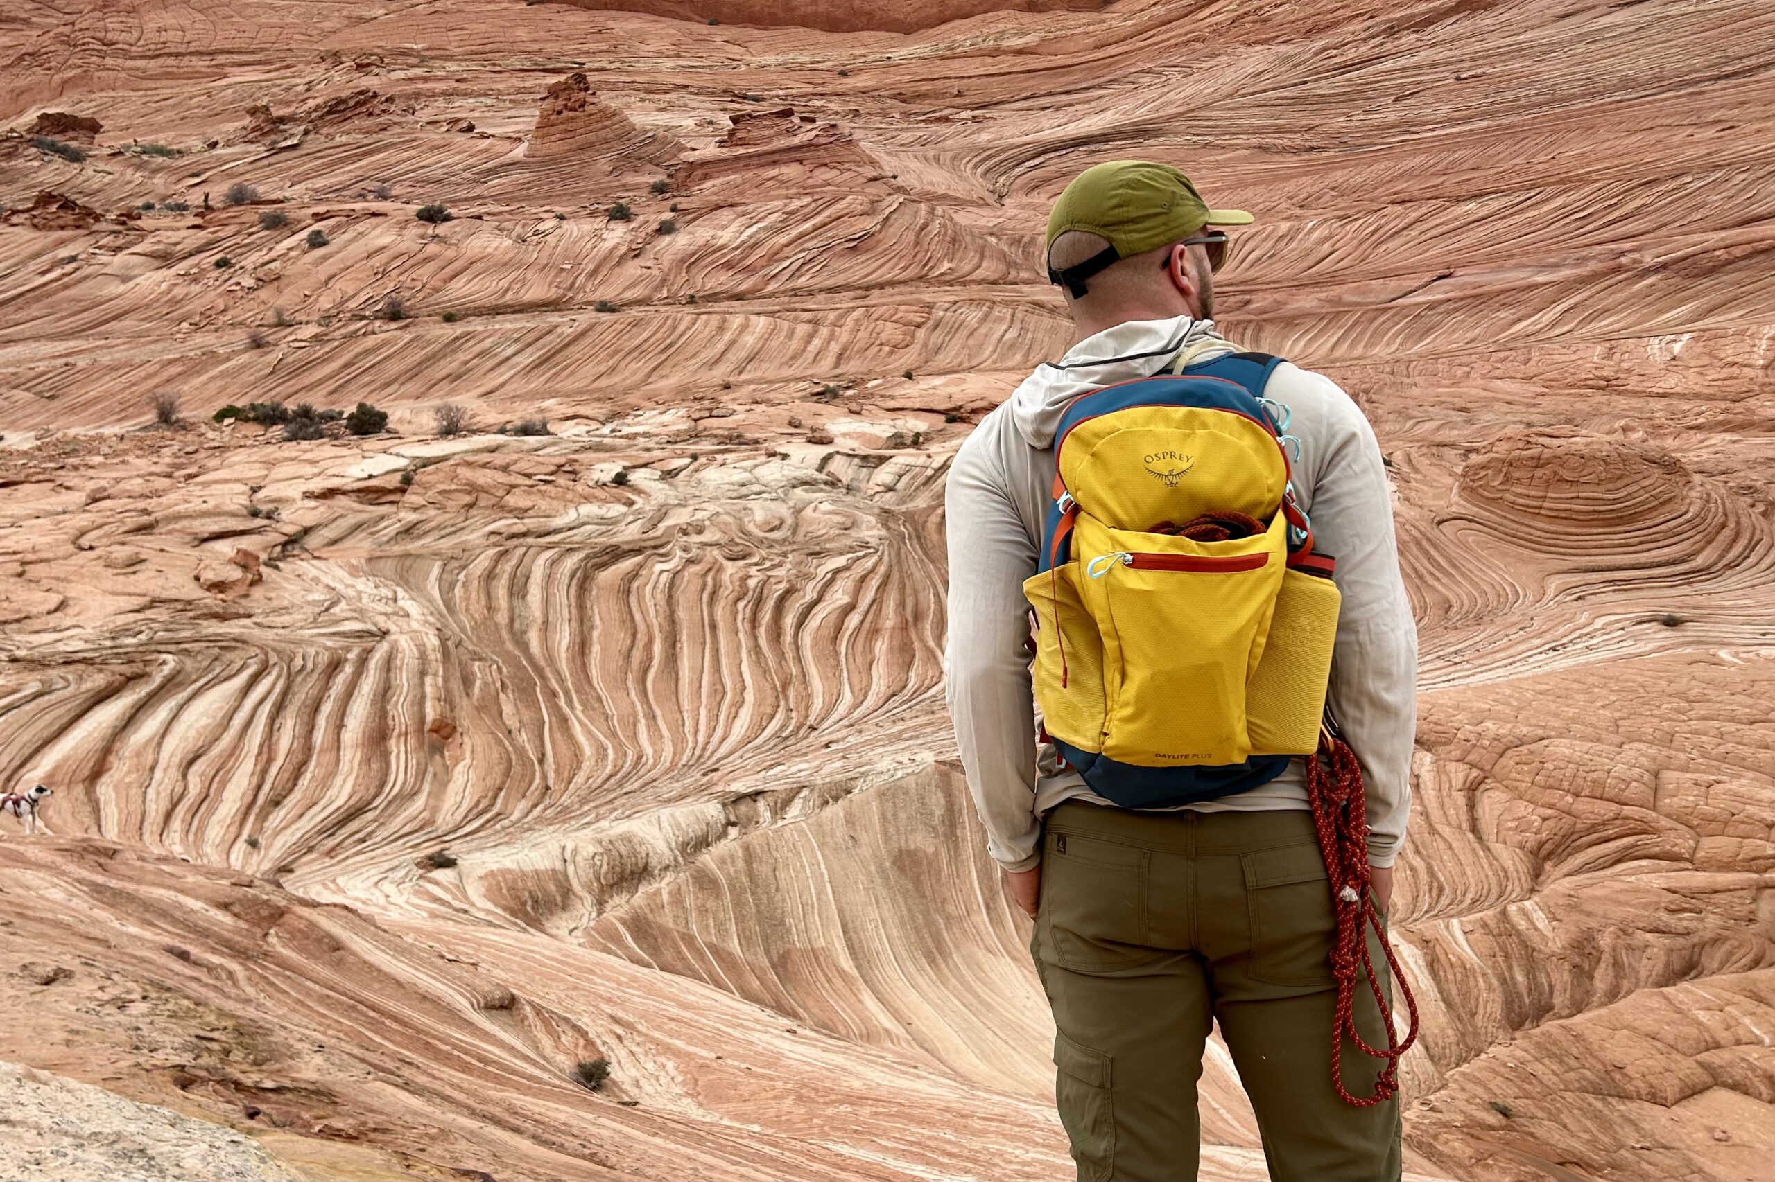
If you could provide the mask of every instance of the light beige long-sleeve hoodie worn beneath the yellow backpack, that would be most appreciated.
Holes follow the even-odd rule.
[[[1234,351],[1212,321],[1129,321],[1044,364],[967,437],[950,467],[950,637],[944,676],[950,715],[987,847],[1006,870],[1040,861],[1040,816],[1069,799],[1109,806],[1037,744],[1030,683],[1028,600],[1054,479],[1054,429],[1079,394],[1143,378],[1179,350],[1214,341],[1195,360]],[[1337,557],[1344,595],[1331,658],[1329,705],[1361,761],[1369,802],[1369,861],[1392,866],[1411,806],[1418,634],[1399,577],[1392,495],[1381,449],[1361,410],[1329,378],[1283,362],[1264,396],[1292,412],[1301,440],[1294,488],[1312,516],[1317,550]],[[1278,779],[1202,811],[1306,809],[1299,760]]]

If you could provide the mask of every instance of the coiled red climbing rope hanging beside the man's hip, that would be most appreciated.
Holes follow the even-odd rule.
[[[1361,765],[1349,745],[1329,731],[1319,735],[1319,753],[1306,760],[1306,799],[1314,808],[1314,827],[1319,831],[1319,850],[1324,854],[1326,870],[1331,875],[1331,905],[1337,909],[1337,942],[1331,948],[1331,974],[1337,978],[1337,1020],[1331,1024],[1331,1086],[1345,1104],[1369,1107],[1381,1104],[1399,1093],[1399,1058],[1418,1038],[1418,1001],[1411,996],[1404,973],[1399,969],[1399,957],[1386,939],[1386,928],[1374,910],[1374,896],[1369,891],[1369,820],[1361,792]],[[1374,928],[1381,939],[1381,951],[1393,971],[1399,992],[1406,999],[1411,1013],[1411,1029],[1406,1040],[1399,1042],[1393,1029],[1393,1012],[1381,994],[1381,985],[1374,980],[1374,964],[1369,960],[1369,941],[1363,928]],[[1374,1005],[1386,1022],[1386,1049],[1379,1051],[1363,1042],[1356,1031],[1356,965],[1361,964],[1369,976],[1369,989],[1374,990]],[[1344,1086],[1344,1038],[1349,1036],[1356,1047],[1369,1056],[1386,1060],[1386,1068],[1374,1081],[1374,1095],[1358,1099]]]

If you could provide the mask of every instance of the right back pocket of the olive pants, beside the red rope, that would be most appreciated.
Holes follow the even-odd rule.
[[[1271,985],[1331,985],[1337,912],[1317,845],[1241,854],[1251,916],[1251,976]]]

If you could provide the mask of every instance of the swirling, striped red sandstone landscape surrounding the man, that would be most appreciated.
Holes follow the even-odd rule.
[[[1408,1168],[1768,1177],[1771,14],[25,5],[0,1058],[165,1170],[1067,1173],[941,490],[1065,348],[1047,204],[1143,154],[1258,213],[1221,325],[1395,488]],[[211,421],[273,401],[389,429]],[[1203,1129],[1260,1177],[1218,1047]]]

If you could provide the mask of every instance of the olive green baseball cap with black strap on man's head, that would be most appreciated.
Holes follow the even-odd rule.
[[[1111,160],[1072,177],[1047,215],[1047,245],[1067,231],[1088,231],[1109,240],[1102,250],[1065,272],[1047,268],[1047,280],[1074,296],[1085,280],[1118,259],[1157,250],[1189,238],[1203,225],[1250,225],[1244,209],[1209,209],[1189,177],[1172,165],[1148,160]]]

